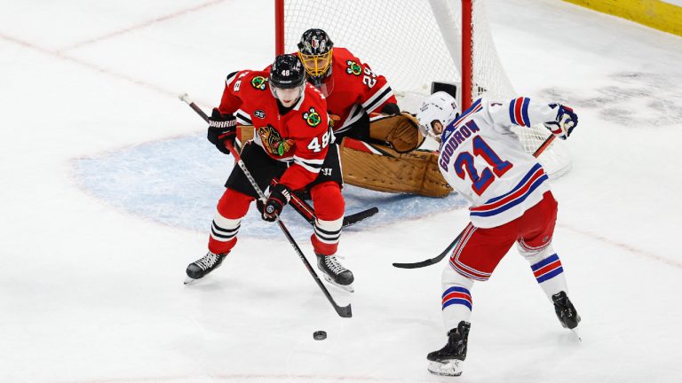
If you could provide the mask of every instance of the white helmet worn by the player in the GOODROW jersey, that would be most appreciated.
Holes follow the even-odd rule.
[[[416,120],[424,136],[440,141],[440,134],[450,121],[459,117],[460,110],[455,98],[444,91],[438,91],[424,99]],[[441,128],[434,129],[433,122],[439,121]],[[440,131],[439,131],[440,130]]]

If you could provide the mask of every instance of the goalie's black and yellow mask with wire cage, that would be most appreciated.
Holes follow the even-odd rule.
[[[327,32],[322,29],[308,29],[301,36],[301,41],[298,43],[298,56],[303,61],[305,72],[313,79],[329,73],[333,48],[334,43]]]

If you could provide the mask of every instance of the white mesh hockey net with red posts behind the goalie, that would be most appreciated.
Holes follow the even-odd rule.
[[[462,3],[470,2],[471,50],[463,54]],[[517,97],[504,72],[490,33],[484,0],[276,0],[278,53],[297,51],[306,29],[324,29],[335,45],[348,48],[378,74],[384,74],[403,110],[415,112],[432,91],[432,82],[453,83],[462,101],[462,62],[472,62],[472,99]],[[468,7],[464,6],[464,10]],[[464,56],[464,58],[463,58]],[[469,71],[464,68],[464,73]],[[464,92],[466,93],[466,92]],[[467,104],[466,102],[464,104]],[[524,149],[535,152],[549,131],[542,125],[515,132]],[[558,177],[571,168],[570,154],[559,140],[539,157]]]

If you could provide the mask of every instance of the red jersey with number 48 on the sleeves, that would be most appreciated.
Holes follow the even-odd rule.
[[[327,155],[332,138],[327,101],[320,90],[306,84],[297,104],[280,114],[268,75],[244,70],[227,76],[218,110],[248,113],[256,130],[254,142],[274,160],[292,162],[280,182],[298,190],[317,177]]]

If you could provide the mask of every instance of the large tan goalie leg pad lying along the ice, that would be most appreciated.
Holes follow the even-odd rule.
[[[344,182],[365,189],[445,197],[452,188],[440,174],[438,154],[399,153],[345,137],[341,144]]]

